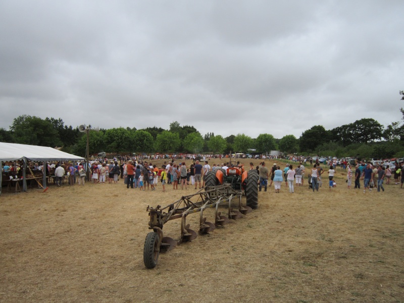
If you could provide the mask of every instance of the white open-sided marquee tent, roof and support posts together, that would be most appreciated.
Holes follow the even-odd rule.
[[[25,170],[28,161],[84,161],[85,159],[52,147],[0,142],[0,167],[3,168],[3,162],[14,162],[18,160],[23,161],[23,191],[27,191]],[[2,178],[3,172],[0,174],[0,184],[2,184]],[[43,170],[42,184],[43,187],[46,187],[46,169]],[[1,193],[2,188],[0,186],[0,194]]]

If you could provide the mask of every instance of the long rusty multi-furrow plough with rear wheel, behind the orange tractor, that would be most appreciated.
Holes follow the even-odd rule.
[[[208,234],[216,227],[223,227],[230,222],[230,219],[238,219],[242,215],[251,212],[251,208],[243,206],[241,203],[242,191],[235,190],[229,184],[208,187],[197,191],[194,194],[182,196],[174,203],[156,208],[147,206],[149,212],[149,229],[153,229],[146,236],[143,249],[143,261],[147,268],[154,268],[157,264],[160,251],[169,251],[178,244],[186,241],[192,241],[196,238],[195,231],[186,224],[186,217],[189,214],[199,212],[199,234]],[[238,210],[233,210],[231,201],[238,198]],[[228,215],[223,216],[219,212],[219,206],[228,204]],[[204,211],[209,208],[215,208],[215,223],[207,221],[204,217]],[[165,237],[163,226],[170,220],[181,218],[181,238],[176,241],[170,237]]]

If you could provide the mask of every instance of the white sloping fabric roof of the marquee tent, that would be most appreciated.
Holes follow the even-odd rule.
[[[81,161],[82,157],[71,155],[47,146],[35,146],[0,142],[0,161]]]

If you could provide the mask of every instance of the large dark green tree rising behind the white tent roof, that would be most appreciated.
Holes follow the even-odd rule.
[[[15,142],[40,146],[61,146],[59,133],[49,121],[39,117],[22,115],[10,126]]]

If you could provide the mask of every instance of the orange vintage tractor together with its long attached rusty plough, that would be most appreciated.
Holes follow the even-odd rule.
[[[143,262],[146,268],[157,265],[160,252],[170,251],[182,242],[192,241],[197,233],[186,223],[187,216],[199,213],[199,234],[209,234],[216,227],[223,227],[230,220],[241,218],[258,206],[258,173],[255,170],[243,171],[242,168],[229,168],[227,172],[219,169],[209,172],[205,189],[194,194],[182,196],[168,206],[147,206],[149,213],[149,232],[144,241]],[[247,197],[247,206],[242,203],[242,195]],[[236,207],[232,200],[238,200]],[[220,212],[219,207],[228,205],[228,215]],[[204,211],[214,208],[214,223],[208,222]],[[209,214],[209,213],[208,213]],[[213,215],[213,214],[212,214]],[[178,240],[167,237],[163,226],[170,220],[181,219],[181,237]]]

